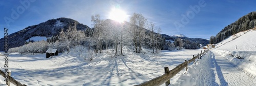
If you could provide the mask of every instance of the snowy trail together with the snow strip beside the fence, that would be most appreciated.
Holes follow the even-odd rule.
[[[239,70],[215,50],[209,51],[197,63],[188,67],[177,82],[170,85],[254,85],[256,78]]]

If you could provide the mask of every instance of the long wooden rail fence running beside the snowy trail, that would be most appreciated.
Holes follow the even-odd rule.
[[[163,83],[165,83],[165,85],[169,85],[170,84],[170,78],[174,77],[177,73],[179,73],[181,70],[183,70],[184,68],[186,68],[187,71],[187,66],[190,62],[194,62],[196,59],[201,59],[201,57],[203,55],[205,55],[209,50],[204,50],[204,52],[201,51],[201,54],[198,53],[197,56],[193,55],[193,58],[190,60],[185,60],[185,62],[181,63],[179,66],[177,66],[176,68],[172,69],[169,71],[168,67],[164,68],[164,74],[161,76],[158,76],[156,78],[151,79],[150,81],[146,81],[143,82],[141,84],[139,84],[138,86],[150,86],[150,85],[161,85]]]

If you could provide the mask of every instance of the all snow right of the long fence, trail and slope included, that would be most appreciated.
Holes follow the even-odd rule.
[[[223,40],[170,85],[255,85],[256,31]]]

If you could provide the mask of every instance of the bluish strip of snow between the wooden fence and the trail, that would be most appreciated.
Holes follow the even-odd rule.
[[[214,79],[213,71],[211,70],[211,56],[212,53],[208,52],[206,55],[199,59],[196,63],[188,66],[186,73],[182,73],[176,83],[171,83],[170,85],[212,85],[212,79]],[[207,76],[205,76],[207,75]],[[208,80],[201,80],[204,79]],[[204,82],[205,81],[205,82]]]

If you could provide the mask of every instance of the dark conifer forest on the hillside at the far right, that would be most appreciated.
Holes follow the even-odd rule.
[[[250,12],[249,14],[239,18],[236,22],[226,26],[216,36],[211,36],[210,44],[217,44],[231,35],[254,27],[256,27],[256,12]]]

